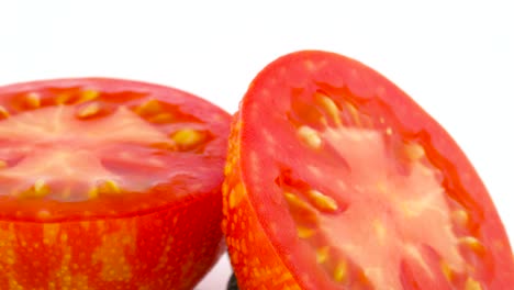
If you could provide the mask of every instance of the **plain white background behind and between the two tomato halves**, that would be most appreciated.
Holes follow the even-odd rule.
[[[1,1],[0,85],[130,78],[190,91],[232,113],[278,56],[344,54],[386,75],[446,127],[514,237],[509,1],[343,2]],[[198,289],[224,289],[228,271],[224,258]]]

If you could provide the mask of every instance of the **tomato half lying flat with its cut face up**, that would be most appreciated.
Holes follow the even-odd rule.
[[[0,289],[191,289],[224,249],[230,115],[116,79],[0,87]]]

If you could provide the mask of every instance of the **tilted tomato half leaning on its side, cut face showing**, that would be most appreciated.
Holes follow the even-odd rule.
[[[252,82],[223,231],[242,289],[510,289],[505,230],[465,154],[388,79],[298,52]]]

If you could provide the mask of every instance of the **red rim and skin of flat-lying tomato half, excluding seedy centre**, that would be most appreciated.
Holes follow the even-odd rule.
[[[225,249],[221,185],[231,116],[190,93],[119,79],[18,83],[0,87],[0,101],[47,88],[93,88],[111,93],[113,103],[150,94],[201,119],[213,141],[195,154],[206,161],[194,157],[188,165],[198,169],[194,176],[145,192],[75,203],[0,194],[0,289],[192,289]],[[32,214],[40,207],[51,215]]]

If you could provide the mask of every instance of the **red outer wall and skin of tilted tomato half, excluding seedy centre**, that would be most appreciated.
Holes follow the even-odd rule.
[[[325,66],[323,70],[315,69],[320,64]],[[473,224],[469,231],[480,237],[487,252],[481,256],[481,267],[487,269],[478,281],[481,288],[473,288],[478,282],[471,279],[454,282],[466,285],[466,289],[509,289],[514,285],[512,249],[498,212],[472,165],[444,129],[403,91],[369,67],[332,53],[298,52],[280,57],[259,72],[233,123],[223,188],[223,231],[241,289],[347,289],[331,282],[315,260],[305,254],[306,247],[295,236],[286,203],[270,193],[275,185],[273,180],[267,179],[272,176],[269,172],[275,170],[276,159],[279,159],[273,154],[281,154],[267,148],[268,137],[275,138],[275,143],[270,143],[278,144],[277,148],[288,147],[293,156],[303,157],[303,153],[297,150],[299,145],[281,138],[284,130],[278,122],[286,115],[277,108],[289,105],[284,103],[294,97],[288,96],[311,93],[319,86],[348,88],[365,101],[387,103],[404,131],[423,132],[428,136],[425,146],[431,148],[427,153],[431,161],[443,168],[448,177],[445,187],[452,198],[472,212]],[[312,116],[305,115],[305,119]],[[271,132],[271,136],[264,132]],[[426,275],[413,272],[403,264],[401,268],[404,289],[435,289],[431,285],[440,286],[437,289],[454,289],[446,281],[431,281]],[[444,276],[438,274],[437,279],[444,279]]]

